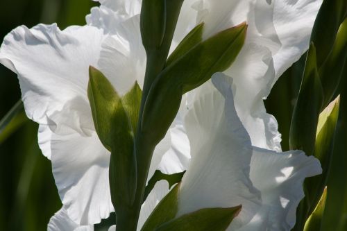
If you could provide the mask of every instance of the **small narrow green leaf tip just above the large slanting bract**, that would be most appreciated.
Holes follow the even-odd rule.
[[[175,51],[171,53],[167,59],[166,67],[172,65],[173,62],[181,58],[188,51],[190,51],[196,44],[203,40],[203,26],[204,23],[198,24],[192,31],[190,31],[185,38],[178,44]]]

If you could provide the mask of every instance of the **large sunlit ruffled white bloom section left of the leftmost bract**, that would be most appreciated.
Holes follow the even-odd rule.
[[[28,117],[40,123],[40,148],[51,158],[62,203],[78,224],[99,223],[113,209],[110,153],[96,136],[87,99],[88,67],[97,67],[103,38],[91,26],[22,26],[0,50],[0,61],[18,74]]]

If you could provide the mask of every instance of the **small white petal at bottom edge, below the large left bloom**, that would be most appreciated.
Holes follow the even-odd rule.
[[[65,207],[62,207],[49,220],[48,231],[93,231],[94,225],[78,225],[69,219]]]

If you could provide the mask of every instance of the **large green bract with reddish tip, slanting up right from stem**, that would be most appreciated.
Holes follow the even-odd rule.
[[[232,65],[244,44],[246,28],[246,24],[240,24],[217,33],[196,44],[160,73],[144,104],[141,130],[147,137],[158,143],[176,117],[182,94]]]

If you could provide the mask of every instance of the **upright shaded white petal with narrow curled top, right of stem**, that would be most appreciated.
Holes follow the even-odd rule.
[[[226,99],[215,89],[187,113],[192,160],[183,177],[177,216],[205,207],[242,205],[230,227],[235,228],[257,212],[260,194],[249,179],[251,140],[237,117],[230,85],[223,76],[212,80]]]

